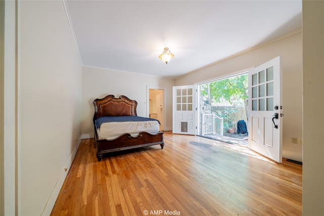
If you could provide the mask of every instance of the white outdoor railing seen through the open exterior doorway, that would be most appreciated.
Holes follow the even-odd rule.
[[[203,135],[217,134],[223,136],[224,121],[223,117],[217,116],[215,113],[203,113]]]

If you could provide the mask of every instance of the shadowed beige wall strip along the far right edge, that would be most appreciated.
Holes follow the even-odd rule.
[[[324,2],[303,1],[303,215],[324,215]]]

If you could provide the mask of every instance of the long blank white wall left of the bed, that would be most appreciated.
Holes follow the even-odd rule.
[[[49,215],[81,136],[82,66],[62,1],[18,3],[18,213]]]

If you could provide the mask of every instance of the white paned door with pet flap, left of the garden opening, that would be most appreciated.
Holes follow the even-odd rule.
[[[196,87],[173,87],[173,134],[196,135]]]

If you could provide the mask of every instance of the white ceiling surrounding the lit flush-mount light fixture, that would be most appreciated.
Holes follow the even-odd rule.
[[[300,0],[66,3],[83,65],[172,78],[302,28]]]

